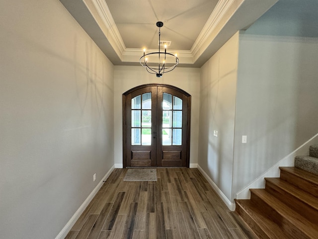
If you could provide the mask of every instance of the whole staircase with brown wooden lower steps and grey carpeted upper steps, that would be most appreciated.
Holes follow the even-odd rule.
[[[318,239],[318,145],[265,180],[265,189],[250,189],[250,200],[236,200],[251,230],[260,239]]]

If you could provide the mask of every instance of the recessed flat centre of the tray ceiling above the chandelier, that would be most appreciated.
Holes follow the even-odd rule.
[[[127,48],[158,48],[157,21],[163,22],[161,40],[170,49],[191,50],[218,0],[105,0]]]

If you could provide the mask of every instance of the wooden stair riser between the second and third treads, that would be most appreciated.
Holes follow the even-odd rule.
[[[266,181],[265,189],[276,198],[284,202],[286,205],[288,205],[290,208],[292,208],[294,211],[304,216],[312,223],[318,225],[318,211],[315,208],[312,208],[308,204],[299,200],[294,195],[287,193],[271,182]]]

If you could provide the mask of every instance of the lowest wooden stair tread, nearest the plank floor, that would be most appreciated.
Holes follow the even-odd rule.
[[[284,231],[272,220],[270,220],[266,215],[264,215],[250,200],[236,200],[237,205],[248,214],[248,216],[253,220],[253,222],[262,230],[262,233],[270,239],[289,239],[290,236],[285,234]],[[255,227],[252,230],[257,231]],[[255,233],[254,231],[254,233]],[[257,233],[256,233],[257,234]]]

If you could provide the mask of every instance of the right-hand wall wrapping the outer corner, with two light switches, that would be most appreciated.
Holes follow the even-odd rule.
[[[317,38],[240,31],[201,68],[198,165],[229,208],[317,142],[317,55]]]

